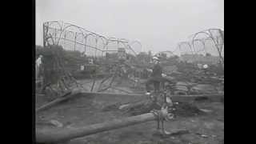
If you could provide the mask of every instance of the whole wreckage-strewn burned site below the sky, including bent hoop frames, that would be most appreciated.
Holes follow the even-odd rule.
[[[36,142],[224,143],[223,30],[200,31],[156,54],[65,22],[45,22],[43,30]],[[161,77],[150,85],[157,65]]]

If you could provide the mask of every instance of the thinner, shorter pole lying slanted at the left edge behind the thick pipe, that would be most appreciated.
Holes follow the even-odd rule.
[[[59,102],[63,102],[69,98],[73,98],[74,95],[80,94],[80,93],[81,93],[81,90],[78,90],[78,89],[74,89],[72,91],[66,92],[61,97],[55,99],[54,101],[46,103],[45,105],[38,107],[38,109],[36,109],[35,112],[38,113],[39,111],[46,110],[46,109],[50,108],[51,106],[54,106],[54,105],[58,104]]]

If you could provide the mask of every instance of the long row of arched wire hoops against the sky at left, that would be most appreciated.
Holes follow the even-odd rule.
[[[132,48],[134,43],[140,47]],[[129,42],[125,38],[107,38],[80,26],[62,21],[43,23],[43,46],[58,45],[65,50],[78,50],[88,56],[104,56],[106,53],[117,52],[125,48],[127,54],[136,55],[142,50],[138,41]]]

